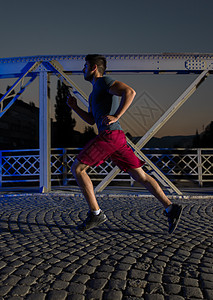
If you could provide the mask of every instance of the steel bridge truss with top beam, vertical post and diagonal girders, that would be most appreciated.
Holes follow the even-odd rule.
[[[105,55],[108,61],[107,73],[113,74],[197,74],[196,79],[176,99],[146,134],[133,144],[127,138],[136,155],[146,161],[152,175],[171,193],[181,195],[179,189],[141,152],[141,148],[189,99],[199,85],[213,73],[213,54],[134,54]],[[29,56],[0,59],[0,79],[14,78],[14,84],[0,99],[0,118],[13,105],[17,98],[39,77],[39,147],[40,147],[40,191],[51,190],[51,149],[50,149],[50,76],[57,76],[69,87],[86,107],[86,94],[71,80],[69,75],[81,74],[85,63],[84,55]],[[19,91],[15,91],[19,89]],[[6,100],[6,101],[5,101]],[[6,104],[5,104],[6,103]],[[102,191],[120,172],[114,167],[98,184],[95,191]]]

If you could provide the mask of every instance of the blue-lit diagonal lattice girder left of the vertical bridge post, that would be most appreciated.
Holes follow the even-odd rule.
[[[24,78],[30,73],[35,71],[37,67],[41,64],[41,62],[34,62],[34,63],[27,63],[26,68],[24,72],[21,74],[21,76],[16,80],[16,82],[11,86],[11,88],[2,96],[0,99],[0,118],[6,113],[6,111],[13,105],[13,103],[17,100],[17,98],[25,91],[26,87],[34,81],[34,79],[37,77],[36,73],[33,73],[31,75],[31,78],[29,81],[24,85]],[[15,90],[15,88],[21,84],[20,90],[18,93],[12,94],[12,92]],[[10,101],[8,104],[3,107],[4,100],[9,99]],[[11,99],[12,98],[12,99]]]

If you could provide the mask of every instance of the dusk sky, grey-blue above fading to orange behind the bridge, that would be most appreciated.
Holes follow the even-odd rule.
[[[0,57],[213,53],[212,15],[212,0],[7,0],[1,3]],[[194,134],[196,129],[201,132],[213,120],[212,76],[159,136]],[[138,95],[146,93],[165,111],[195,78],[134,75],[115,79],[131,84]],[[89,93],[83,77],[77,78],[78,84],[81,80]],[[0,92],[6,85],[0,80]],[[32,90],[26,90],[22,99],[36,102],[37,93],[32,95]],[[54,108],[55,95],[52,97]]]

